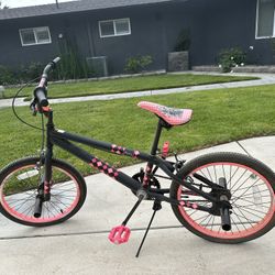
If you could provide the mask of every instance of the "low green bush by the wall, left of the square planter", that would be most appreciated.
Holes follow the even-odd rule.
[[[143,72],[148,65],[153,63],[151,55],[138,55],[127,59],[124,72],[130,74],[138,74]]]

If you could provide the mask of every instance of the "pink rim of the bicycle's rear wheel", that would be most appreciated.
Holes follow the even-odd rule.
[[[245,166],[245,165],[241,165],[241,164],[237,164],[237,163],[210,163],[204,166],[198,167],[197,169],[193,170],[189,175],[197,173],[200,169],[204,169],[206,167],[210,167],[210,166],[217,166],[217,165],[229,165],[229,166],[238,166],[241,168],[245,168],[248,170],[250,170],[251,173],[255,174],[256,176],[258,176],[267,186],[268,190],[271,194],[273,194],[273,188],[271,186],[271,184],[268,183],[268,180],[263,177],[261,174],[258,174],[256,170]],[[177,190],[177,199],[180,200],[180,195],[182,195],[182,187],[178,188]],[[184,207],[178,207],[179,212],[182,213],[182,216],[184,217],[184,219],[197,231],[207,234],[209,237],[213,237],[213,238],[219,238],[219,239],[239,239],[239,238],[245,238],[245,237],[250,237],[256,232],[258,232],[260,230],[262,230],[273,218],[274,212],[275,212],[275,200],[274,198],[271,199],[271,206],[268,208],[268,211],[266,212],[265,217],[263,220],[258,221],[254,227],[246,229],[246,230],[242,230],[242,231],[213,231],[210,229],[205,228],[204,226],[197,223],[196,221],[194,221],[194,219],[186,212]]]

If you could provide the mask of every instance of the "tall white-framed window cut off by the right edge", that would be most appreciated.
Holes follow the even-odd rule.
[[[275,0],[257,0],[256,38],[275,36]]]

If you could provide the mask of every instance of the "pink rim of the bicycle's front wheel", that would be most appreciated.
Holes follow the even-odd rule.
[[[20,170],[20,169],[22,169],[22,168],[24,169],[24,168],[29,168],[29,167],[34,167],[34,166],[33,166],[33,165],[26,165],[26,166],[20,167],[20,168],[18,168],[18,169],[14,169],[14,170],[9,175],[9,177],[12,176],[15,172],[18,172],[18,170]],[[6,200],[6,198],[4,198],[4,195],[3,195],[4,183],[6,183],[7,179],[9,179],[9,177],[4,178],[4,180],[2,182],[2,185],[0,186],[0,194],[1,194],[1,197],[0,197],[1,201],[0,201],[0,202],[1,202],[2,207],[3,207],[3,209],[4,209],[10,216],[12,216],[12,217],[14,217],[14,218],[16,218],[16,219],[19,219],[19,220],[28,221],[28,222],[32,222],[32,223],[53,222],[53,221],[59,220],[59,219],[66,217],[68,213],[70,213],[70,212],[75,209],[75,207],[77,206],[77,204],[78,204],[78,201],[79,201],[79,198],[80,198],[80,190],[79,190],[79,187],[78,187],[78,185],[76,184],[75,178],[73,178],[73,177],[70,176],[70,174],[68,174],[66,170],[64,170],[64,169],[62,169],[62,168],[59,168],[59,167],[56,167],[56,166],[55,166],[55,168],[57,168],[58,170],[61,170],[61,172],[63,172],[64,174],[66,174],[66,175],[75,183],[75,186],[76,186],[76,191],[77,191],[76,197],[75,197],[74,201],[72,202],[72,205],[70,205],[65,211],[63,211],[61,215],[56,215],[56,216],[54,216],[54,217],[47,217],[47,218],[45,218],[45,217],[42,217],[42,218],[34,218],[34,217],[25,216],[25,215],[22,215],[22,213],[18,212],[15,209],[13,209],[13,208],[11,208],[11,207],[9,206],[9,204],[7,202],[7,200]]]

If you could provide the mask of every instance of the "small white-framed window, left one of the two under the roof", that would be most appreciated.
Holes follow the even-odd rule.
[[[52,43],[47,26],[19,30],[22,46]]]

